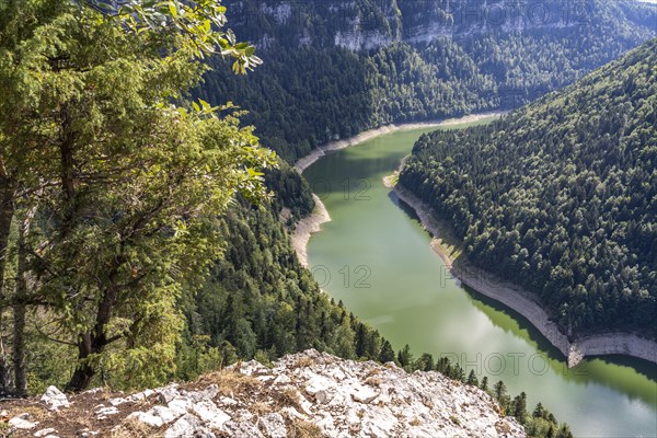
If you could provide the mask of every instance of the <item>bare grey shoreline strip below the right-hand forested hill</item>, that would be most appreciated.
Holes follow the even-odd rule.
[[[385,181],[390,183],[391,178]],[[489,273],[474,268],[459,257],[452,258],[436,238],[440,235],[440,230],[429,206],[399,184],[388,185],[401,200],[415,210],[423,227],[433,235],[431,247],[442,258],[451,274],[462,284],[525,316],[567,358],[568,368],[577,366],[587,356],[601,355],[633,356],[657,364],[657,343],[634,334],[607,333],[568,341],[568,336],[560,331],[556,323],[551,321],[548,312],[529,292],[502,281]]]

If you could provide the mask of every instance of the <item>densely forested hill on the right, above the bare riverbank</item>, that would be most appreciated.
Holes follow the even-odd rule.
[[[657,39],[486,127],[423,136],[400,183],[564,331],[657,336]]]

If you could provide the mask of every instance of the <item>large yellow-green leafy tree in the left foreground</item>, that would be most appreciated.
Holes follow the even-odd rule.
[[[223,7],[95,5],[10,2],[0,21],[14,36],[0,43],[3,188],[14,220],[35,222],[21,300],[77,346],[70,390],[101,368],[119,387],[166,379],[183,328],[176,301],[221,250],[214,218],[235,193],[265,199],[258,170],[276,164],[238,114],[220,116],[230,105],[173,104],[216,47],[238,71],[258,62],[217,28]]]

